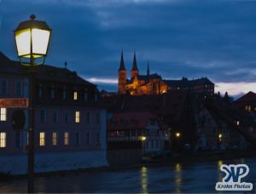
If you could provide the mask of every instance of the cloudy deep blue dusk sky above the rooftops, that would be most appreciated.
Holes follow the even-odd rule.
[[[0,51],[16,60],[13,30],[36,14],[53,29],[46,64],[117,90],[121,48],[127,71],[209,77],[216,91],[256,92],[256,1],[0,0]]]

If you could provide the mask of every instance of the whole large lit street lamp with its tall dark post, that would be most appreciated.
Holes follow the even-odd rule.
[[[36,16],[31,14],[30,19],[20,22],[15,29],[15,43],[20,63],[29,66],[29,128],[28,128],[28,163],[27,163],[27,192],[34,192],[34,66],[44,64],[49,46],[51,29],[45,21],[35,20]],[[38,58],[44,58],[43,63],[35,63]],[[22,62],[29,59],[29,63]]]

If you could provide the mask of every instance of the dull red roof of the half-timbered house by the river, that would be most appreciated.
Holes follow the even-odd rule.
[[[151,119],[157,121],[157,117],[148,111],[113,113],[108,130],[147,128]]]

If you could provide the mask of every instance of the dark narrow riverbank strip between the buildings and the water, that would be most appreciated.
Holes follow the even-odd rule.
[[[46,172],[46,173],[37,173],[36,177],[40,176],[52,176],[60,175],[66,176],[68,174],[81,174],[84,172],[92,173],[97,171],[116,171],[120,169],[129,169],[129,168],[140,168],[143,166],[158,166],[158,165],[170,165],[175,163],[208,163],[208,162],[218,162],[218,161],[227,161],[234,159],[241,159],[246,157],[256,157],[256,151],[204,151],[204,152],[195,152],[195,153],[174,153],[170,157],[143,157],[141,163],[135,163],[131,165],[118,165],[118,166],[105,166],[99,168],[78,168],[73,170],[65,171],[55,171],[55,172]],[[2,178],[1,178],[2,177]],[[6,178],[6,179],[5,179]],[[12,175],[1,174],[0,181],[9,181],[14,179],[26,178],[26,174],[23,175]]]

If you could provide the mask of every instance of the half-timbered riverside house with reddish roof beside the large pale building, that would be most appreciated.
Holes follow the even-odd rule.
[[[148,111],[113,113],[107,137],[112,144],[141,142],[144,155],[163,151],[169,140],[165,124]]]

